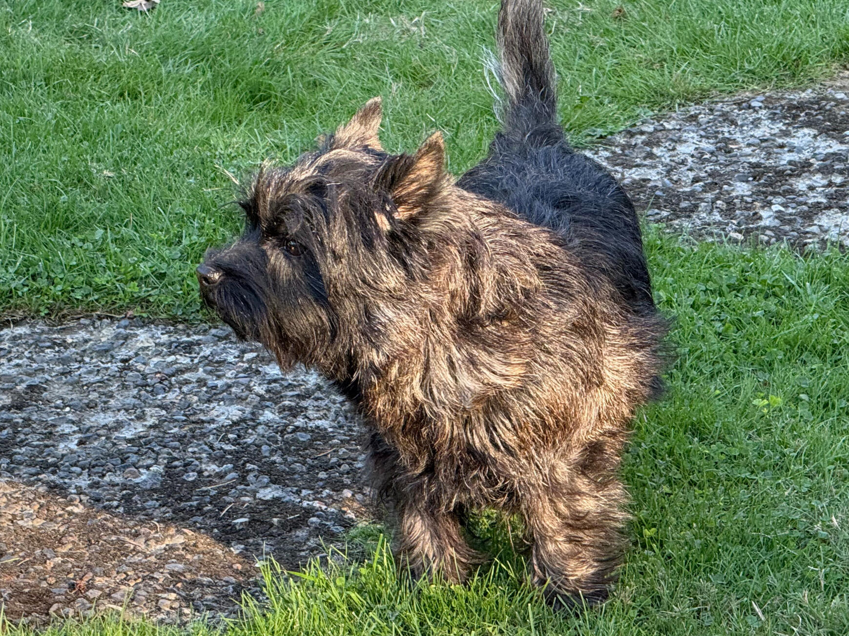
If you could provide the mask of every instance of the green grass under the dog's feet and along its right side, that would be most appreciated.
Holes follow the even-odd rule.
[[[367,535],[364,561],[313,563],[294,583],[267,569],[270,605],[228,636],[846,636],[849,257],[698,244],[651,228],[647,247],[656,298],[676,316],[678,359],[625,458],[631,549],[607,605],[555,616],[509,553],[469,587],[410,591],[371,527],[353,538]],[[483,528],[494,548],[505,544]],[[152,629],[63,623],[54,633]]]

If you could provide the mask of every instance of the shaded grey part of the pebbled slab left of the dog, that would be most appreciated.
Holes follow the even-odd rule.
[[[0,479],[287,567],[367,516],[351,407],[312,372],[282,375],[228,327],[8,327],[0,395]]]

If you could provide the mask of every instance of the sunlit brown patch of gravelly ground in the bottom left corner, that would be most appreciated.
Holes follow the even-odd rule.
[[[97,609],[170,618],[226,611],[255,576],[253,561],[202,533],[0,481],[0,594],[13,621]]]

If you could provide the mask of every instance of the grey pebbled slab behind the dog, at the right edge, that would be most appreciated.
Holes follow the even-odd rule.
[[[683,109],[589,154],[649,220],[700,238],[849,246],[849,75]]]

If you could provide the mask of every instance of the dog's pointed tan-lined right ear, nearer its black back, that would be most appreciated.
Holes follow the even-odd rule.
[[[408,219],[428,204],[445,186],[445,142],[442,133],[428,137],[413,156],[402,155],[385,171],[384,185],[396,207],[398,219]]]

